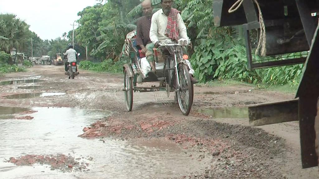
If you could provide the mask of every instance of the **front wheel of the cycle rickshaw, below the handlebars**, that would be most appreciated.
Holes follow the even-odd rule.
[[[187,116],[193,104],[193,84],[185,64],[178,65],[178,77],[181,88],[177,90],[177,100],[183,115]]]

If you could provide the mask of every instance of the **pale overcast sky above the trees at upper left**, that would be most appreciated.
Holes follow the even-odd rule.
[[[56,39],[72,30],[78,12],[96,0],[0,0],[0,13],[13,13],[26,20],[41,39]],[[76,28],[76,27],[75,27]]]

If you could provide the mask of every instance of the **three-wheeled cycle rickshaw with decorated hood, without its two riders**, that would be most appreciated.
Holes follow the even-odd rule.
[[[132,111],[133,91],[151,92],[166,91],[167,97],[170,92],[175,93],[175,102],[183,115],[188,115],[193,104],[193,84],[191,83],[189,66],[185,60],[187,55],[182,55],[182,44],[161,44],[154,53],[154,58],[159,59],[162,56],[163,69],[157,69],[156,75],[152,72],[145,75],[142,71],[139,47],[136,45],[136,31],[130,32],[126,36],[125,44],[122,49],[122,55],[130,58],[130,64],[124,64],[124,91],[125,104],[127,111]],[[157,52],[157,53],[156,53]],[[137,76],[143,76],[144,82],[159,82],[159,86],[140,87],[137,86]]]

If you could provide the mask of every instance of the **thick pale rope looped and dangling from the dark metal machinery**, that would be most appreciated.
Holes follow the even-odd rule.
[[[241,4],[244,2],[244,0],[238,0],[236,1],[232,7],[229,8],[228,13],[232,13],[234,11],[237,11]],[[254,2],[257,5],[258,8],[258,13],[259,13],[259,24],[260,24],[260,35],[259,35],[259,41],[258,41],[258,45],[256,48],[255,53],[259,54],[259,50],[261,48],[261,55],[262,56],[266,56],[266,27],[265,27],[265,23],[263,21],[263,14],[261,12],[259,3],[257,2],[257,0],[254,0]]]

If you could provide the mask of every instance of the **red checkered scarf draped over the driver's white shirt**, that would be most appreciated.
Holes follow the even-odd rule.
[[[177,18],[178,18],[178,13],[181,11],[178,11],[177,9],[171,9],[171,11],[168,14],[167,17],[167,27],[165,30],[165,35],[172,39],[172,40],[178,40],[179,34],[178,34],[178,25],[177,25]]]

